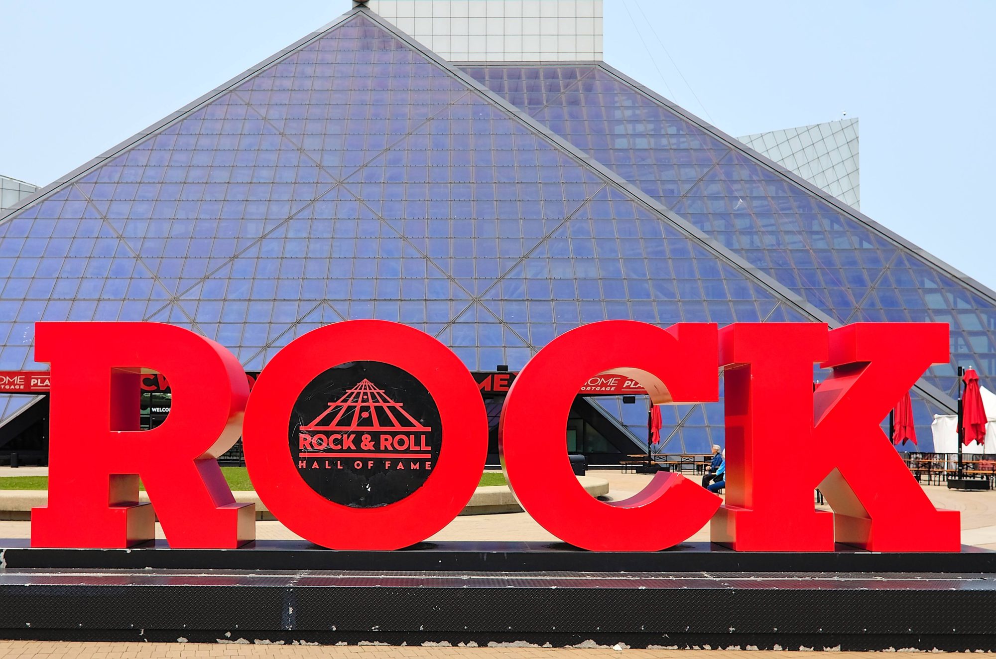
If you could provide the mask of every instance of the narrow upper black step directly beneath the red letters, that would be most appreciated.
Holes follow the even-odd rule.
[[[996,573],[996,551],[967,545],[951,553],[876,553],[846,545],[833,552],[746,552],[711,543],[613,552],[566,543],[449,542],[335,551],[305,541],[256,541],[240,549],[169,549],[164,541],[132,549],[32,549],[27,540],[0,540],[0,561],[8,568],[46,569]]]

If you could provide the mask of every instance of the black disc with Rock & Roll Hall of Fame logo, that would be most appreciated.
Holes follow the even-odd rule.
[[[386,506],[420,488],[442,445],[439,410],[413,375],[380,361],[321,373],[298,396],[289,424],[298,473],[329,501]]]

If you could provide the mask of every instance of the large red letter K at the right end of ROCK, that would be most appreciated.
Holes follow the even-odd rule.
[[[829,340],[828,340],[829,339]],[[943,324],[735,324],[726,366],[727,499],[712,540],[733,549],[957,551],[959,515],[938,511],[881,431],[896,401],[948,359]],[[833,374],[812,393],[812,364]],[[834,513],[816,511],[814,489]]]

